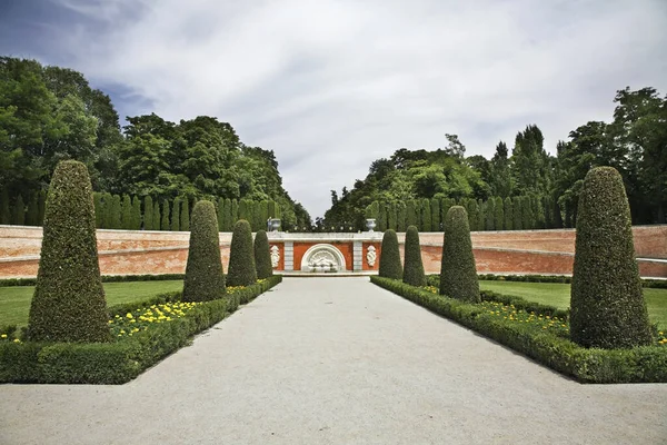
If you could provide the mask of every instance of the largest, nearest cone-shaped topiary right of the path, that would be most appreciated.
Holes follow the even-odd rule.
[[[605,349],[651,343],[628,198],[611,167],[584,179],[570,298],[573,342]]]

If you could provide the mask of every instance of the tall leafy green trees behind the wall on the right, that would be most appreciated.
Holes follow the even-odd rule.
[[[344,187],[341,196],[332,191],[331,208],[317,221],[318,227],[362,230],[365,218],[376,218],[378,230],[402,231],[415,225],[421,231],[439,231],[447,214],[445,199],[466,207],[471,230],[575,227],[584,177],[596,166],[611,166],[620,172],[634,224],[664,224],[667,97],[661,98],[654,88],[626,88],[617,92],[614,102],[610,122],[590,121],[570,131],[568,141],[550,148],[555,155],[547,152],[535,125],[517,134],[511,154],[500,141],[490,160],[465,157],[466,149],[455,135],[447,135],[446,148],[434,151],[401,148],[388,159],[375,160],[351,190]],[[427,210],[426,200],[434,202],[434,198],[439,206],[431,204]],[[496,212],[498,198],[504,200],[502,227],[499,212],[492,221],[480,219],[482,212],[488,216],[488,209],[479,208],[479,202],[472,205],[481,199],[490,207],[490,198]],[[379,206],[368,209],[374,201]],[[398,216],[395,225],[388,217],[394,212]],[[426,212],[431,214],[430,222],[425,220]]]

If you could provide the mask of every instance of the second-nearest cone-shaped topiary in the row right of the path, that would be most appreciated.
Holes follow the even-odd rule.
[[[481,301],[468,212],[461,206],[451,207],[445,217],[440,295],[470,303]]]

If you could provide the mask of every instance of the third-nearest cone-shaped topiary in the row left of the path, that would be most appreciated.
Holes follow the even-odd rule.
[[[257,281],[255,254],[252,249],[252,230],[250,222],[239,219],[231,233],[229,248],[228,286],[250,286]]]

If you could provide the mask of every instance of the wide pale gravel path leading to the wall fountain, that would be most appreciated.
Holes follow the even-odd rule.
[[[666,404],[368,278],[291,278],[127,385],[0,386],[0,444],[665,444]]]

